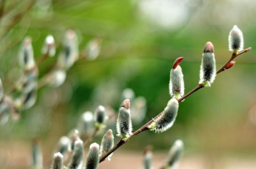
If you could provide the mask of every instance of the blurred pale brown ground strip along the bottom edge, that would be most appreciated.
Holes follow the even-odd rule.
[[[19,142],[9,145],[0,145],[0,169],[30,169],[30,144]],[[44,151],[45,169],[50,168],[50,154],[50,150]],[[166,154],[167,151],[154,152],[154,169],[162,164]],[[111,161],[103,161],[99,169],[142,169],[142,161],[142,152],[120,149],[114,153]],[[256,156],[213,156],[189,152],[185,154],[178,169],[256,169]]]

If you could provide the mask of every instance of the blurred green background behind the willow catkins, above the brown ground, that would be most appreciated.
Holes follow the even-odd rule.
[[[0,168],[29,168],[22,161],[30,158],[31,140],[36,136],[42,139],[44,158],[50,159],[59,137],[76,126],[81,113],[93,112],[98,105],[118,110],[126,88],[147,101],[146,118],[133,125],[134,131],[139,129],[167,105],[174,60],[184,57],[181,67],[187,93],[198,84],[207,41],[214,45],[217,68],[232,55],[228,35],[234,25],[243,31],[245,48],[252,50],[235,59],[235,66],[219,74],[210,88],[181,102],[171,129],[139,134],[117,150],[116,156],[122,152],[124,158],[115,161],[114,154],[113,161],[103,162],[100,168],[120,168],[116,163],[121,160],[132,162],[125,164],[127,168],[129,164],[140,168],[142,164],[129,154],[141,158],[146,145],[154,146],[160,164],[176,139],[185,144],[182,169],[256,168],[255,0],[38,0],[10,29],[15,13],[30,0],[7,0],[6,6],[13,2],[18,6],[0,20],[0,78],[5,89],[15,82],[24,36],[32,37],[35,59],[48,34],[62,42],[70,28],[78,33],[81,51],[94,37],[103,41],[97,59],[76,62],[62,86],[40,89],[36,104],[23,111],[18,122],[0,126]],[[39,78],[56,58],[40,64]],[[102,134],[93,141],[100,143]]]

